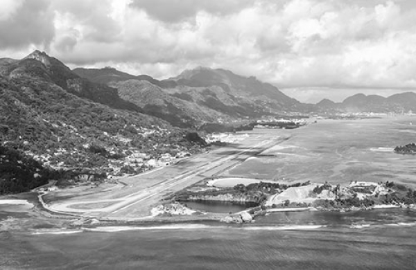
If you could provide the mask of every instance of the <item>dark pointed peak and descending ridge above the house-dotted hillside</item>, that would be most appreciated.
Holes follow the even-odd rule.
[[[22,60],[0,60],[0,75],[5,78],[30,78],[53,83],[70,93],[118,109],[141,111],[136,105],[121,99],[117,90],[80,78],[55,57],[34,51]]]

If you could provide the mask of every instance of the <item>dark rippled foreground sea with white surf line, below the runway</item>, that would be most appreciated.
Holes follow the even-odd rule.
[[[1,269],[415,269],[416,211],[274,213],[254,224],[0,233]],[[56,231],[55,231],[56,233]]]

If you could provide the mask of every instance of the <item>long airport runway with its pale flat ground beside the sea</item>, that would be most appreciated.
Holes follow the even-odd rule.
[[[237,147],[221,147],[175,165],[121,179],[127,186],[114,190],[111,194],[98,192],[95,195],[54,201],[49,205],[44,204],[44,207],[56,213],[88,217],[148,217],[150,209],[169,193],[229,170],[281,141],[284,138],[250,136]]]

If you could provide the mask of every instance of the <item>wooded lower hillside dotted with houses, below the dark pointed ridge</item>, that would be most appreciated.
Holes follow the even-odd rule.
[[[113,109],[31,78],[0,77],[0,123],[1,146],[24,153],[51,170],[71,172],[75,178],[77,174],[92,174],[100,176],[94,179],[101,179],[112,174],[114,166],[109,161],[122,164],[132,152],[157,158],[165,153],[194,154],[205,147],[197,134],[171,127],[158,118]],[[10,164],[5,166],[4,170],[12,171]],[[140,171],[138,168],[136,172]],[[44,179],[23,174],[19,181],[27,184],[3,181],[1,192],[21,192],[44,183]]]

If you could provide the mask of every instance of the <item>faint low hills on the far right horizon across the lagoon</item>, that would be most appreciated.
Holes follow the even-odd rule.
[[[343,102],[335,103],[331,100],[322,100],[316,105],[320,110],[338,112],[374,112],[374,113],[402,113],[416,109],[416,93],[397,93],[384,98],[378,95],[365,95],[357,93],[345,98]]]

